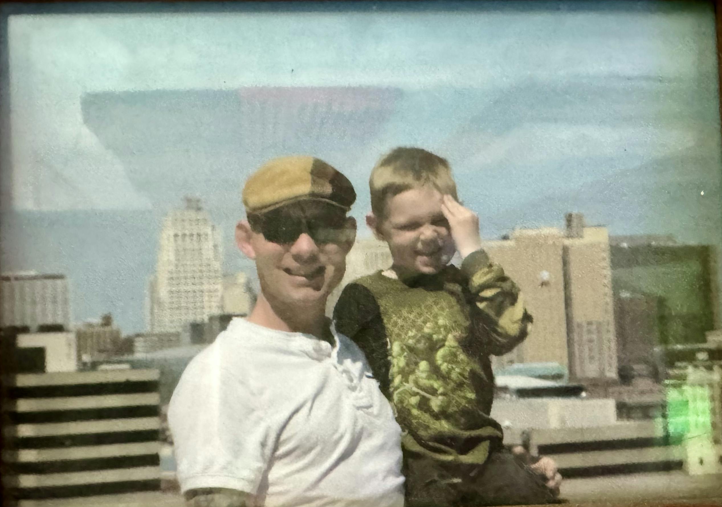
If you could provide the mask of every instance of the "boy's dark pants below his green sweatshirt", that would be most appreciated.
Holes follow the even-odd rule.
[[[446,464],[404,453],[406,507],[480,507],[554,503],[541,476],[505,449],[483,465]]]

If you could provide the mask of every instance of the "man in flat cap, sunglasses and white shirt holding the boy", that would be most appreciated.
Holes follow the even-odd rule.
[[[248,178],[236,242],[261,293],[191,361],[170,402],[188,506],[401,506],[401,430],[326,299],[356,233],[348,179],[313,157]]]

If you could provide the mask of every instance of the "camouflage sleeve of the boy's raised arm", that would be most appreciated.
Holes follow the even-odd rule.
[[[533,320],[524,307],[519,287],[482,249],[466,256],[461,272],[479,309],[477,326],[482,326],[490,338],[489,352],[509,352],[526,338]]]

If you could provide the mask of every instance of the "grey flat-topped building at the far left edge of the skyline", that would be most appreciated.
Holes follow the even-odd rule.
[[[64,274],[7,273],[0,277],[0,326],[62,324],[70,328],[70,295]]]

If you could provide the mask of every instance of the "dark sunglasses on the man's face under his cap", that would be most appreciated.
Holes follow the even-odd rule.
[[[270,215],[270,213],[269,213]],[[314,243],[326,245],[342,243],[349,237],[346,217],[300,217],[291,214],[248,217],[253,230],[266,241],[279,245],[295,243],[300,235],[308,234]]]

